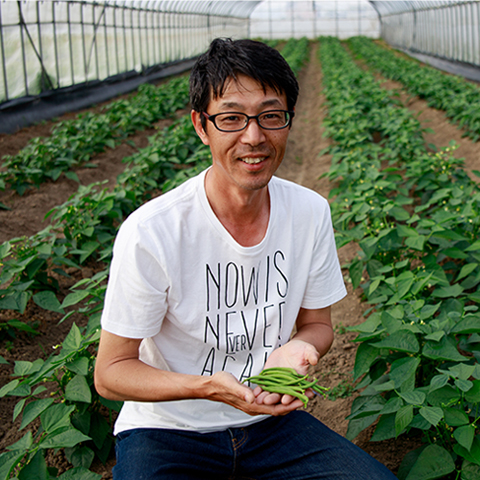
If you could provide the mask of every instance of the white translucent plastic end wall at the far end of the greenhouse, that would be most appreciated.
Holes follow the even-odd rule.
[[[380,35],[378,15],[367,0],[264,0],[250,20],[251,36],[266,39]]]

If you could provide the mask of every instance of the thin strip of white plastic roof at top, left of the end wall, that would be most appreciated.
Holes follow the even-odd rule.
[[[248,18],[260,1],[251,0],[107,0],[105,3],[160,12]]]

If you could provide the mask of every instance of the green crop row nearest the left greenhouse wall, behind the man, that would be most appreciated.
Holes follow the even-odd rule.
[[[0,189],[15,189],[20,195],[62,173],[78,181],[72,168],[95,167],[90,159],[154,122],[173,115],[188,104],[188,77],[161,85],[141,85],[135,95],[103,107],[102,113],[87,112],[57,123],[49,137],[31,140],[14,156],[3,157]]]

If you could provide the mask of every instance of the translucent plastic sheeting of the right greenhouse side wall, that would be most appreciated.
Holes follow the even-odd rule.
[[[381,37],[413,53],[480,67],[480,2],[371,1]]]

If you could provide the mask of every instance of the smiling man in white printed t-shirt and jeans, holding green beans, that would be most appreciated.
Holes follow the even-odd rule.
[[[242,383],[316,365],[346,293],[328,203],[273,176],[295,76],[262,43],[217,39],[190,93],[213,164],[134,212],[114,248],[95,378],[126,401],[114,478],[395,478],[299,399]]]

